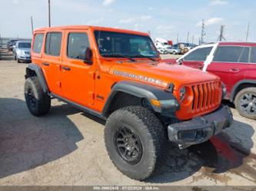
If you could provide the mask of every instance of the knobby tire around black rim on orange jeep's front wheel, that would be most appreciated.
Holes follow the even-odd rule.
[[[115,143],[115,133],[120,127],[126,127],[135,133],[141,141],[142,154],[138,163],[125,161]],[[131,179],[148,179],[156,166],[161,164],[162,151],[167,143],[167,133],[158,117],[144,107],[124,107],[113,112],[105,124],[105,147],[108,156],[121,171]]]

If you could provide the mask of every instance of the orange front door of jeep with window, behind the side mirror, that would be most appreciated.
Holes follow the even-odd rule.
[[[87,107],[95,102],[95,64],[85,64],[81,58],[89,47],[86,31],[66,31],[62,50],[62,96]]]

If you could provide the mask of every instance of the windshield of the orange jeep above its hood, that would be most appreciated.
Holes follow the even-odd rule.
[[[95,31],[101,56],[115,58],[158,58],[151,38],[112,31]]]

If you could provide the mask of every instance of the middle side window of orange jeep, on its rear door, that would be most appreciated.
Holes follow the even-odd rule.
[[[59,56],[62,47],[62,33],[49,32],[46,36],[45,54]]]

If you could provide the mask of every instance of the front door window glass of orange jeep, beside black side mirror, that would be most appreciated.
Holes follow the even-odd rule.
[[[69,33],[68,35],[68,58],[82,59],[81,53],[90,47],[86,33]]]

